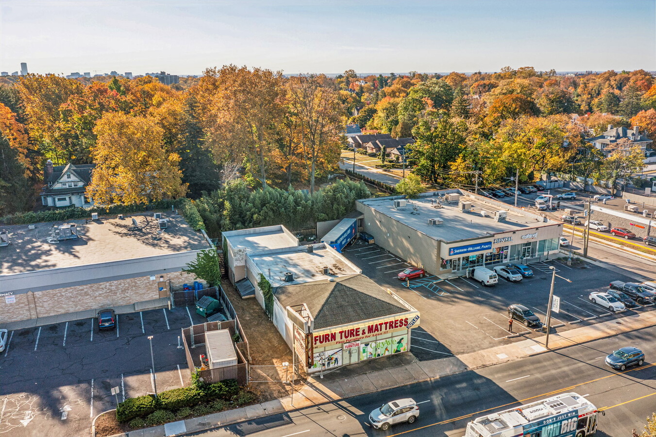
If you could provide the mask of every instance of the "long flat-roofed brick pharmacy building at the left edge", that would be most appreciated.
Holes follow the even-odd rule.
[[[182,268],[209,247],[180,215],[3,226],[0,323],[100,308],[167,306]]]

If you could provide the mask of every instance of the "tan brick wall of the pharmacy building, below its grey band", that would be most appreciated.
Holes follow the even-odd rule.
[[[189,283],[196,279],[185,272],[169,272],[162,276],[171,283]],[[152,301],[159,298],[158,280],[159,276],[150,280],[149,275],[47,291],[28,291],[12,295],[14,303],[7,303],[7,297],[0,297],[0,323]]]

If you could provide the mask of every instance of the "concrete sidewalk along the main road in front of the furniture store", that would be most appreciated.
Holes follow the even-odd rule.
[[[618,322],[621,323],[618,324]],[[544,335],[537,339],[526,339],[517,343],[440,360],[420,362],[411,354],[394,355],[375,360],[375,362],[365,363],[361,367],[355,365],[325,373],[323,379],[320,379],[318,375],[309,377],[306,384],[294,392],[293,395],[285,396],[279,400],[168,423],[159,427],[135,430],[127,434],[117,434],[116,437],[176,436],[187,432],[225,427],[226,425],[276,413],[316,406],[361,394],[430,381],[431,379],[453,375],[462,371],[510,362],[653,325],[656,325],[656,311],[636,314],[636,316],[623,318],[620,321],[608,320],[607,322],[570,329],[562,334],[556,332],[549,337],[549,349],[544,347],[546,341],[546,335]],[[352,367],[354,368],[352,369]],[[358,373],[358,370],[371,369],[371,367],[378,368],[365,373]]]

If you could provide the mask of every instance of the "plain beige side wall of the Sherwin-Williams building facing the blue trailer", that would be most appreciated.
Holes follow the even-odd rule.
[[[373,235],[376,244],[415,266],[432,274],[440,273],[438,250],[440,243],[426,234],[394,220],[375,209],[356,202],[358,211],[364,214],[364,228]]]

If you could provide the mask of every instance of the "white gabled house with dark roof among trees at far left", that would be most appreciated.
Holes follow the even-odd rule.
[[[85,192],[91,182],[94,167],[95,164],[52,165],[52,161],[48,159],[43,177],[45,185],[41,191],[41,203],[52,207],[93,205],[93,201]]]

